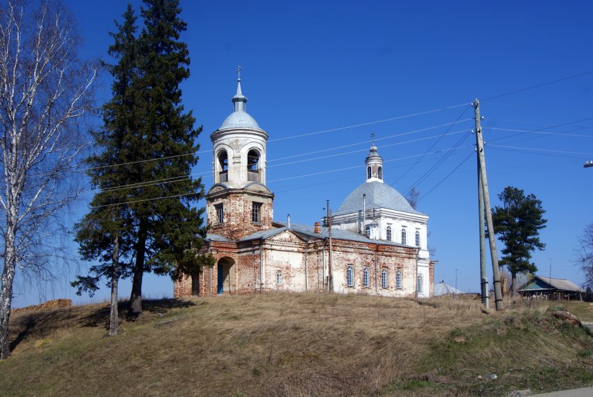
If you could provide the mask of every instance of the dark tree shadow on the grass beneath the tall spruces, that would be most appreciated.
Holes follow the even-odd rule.
[[[119,321],[124,322],[128,301],[119,301]],[[144,299],[142,316],[135,321],[161,317],[174,308],[195,306],[193,301],[181,299]],[[109,327],[110,304],[74,306],[70,308],[41,309],[15,315],[10,319],[10,351],[29,336],[43,337],[57,329],[75,327]],[[14,335],[15,336],[12,336]]]

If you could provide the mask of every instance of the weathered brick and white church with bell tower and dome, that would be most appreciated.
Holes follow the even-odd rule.
[[[232,103],[233,112],[210,135],[214,181],[206,194],[206,253],[216,262],[197,277],[175,281],[174,297],[320,290],[433,296],[428,216],[384,183],[374,143],[363,183],[338,211],[315,225],[275,221],[274,194],[266,186],[268,133],[246,112],[241,77]]]

